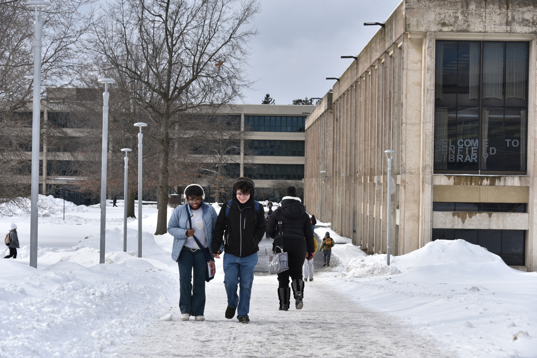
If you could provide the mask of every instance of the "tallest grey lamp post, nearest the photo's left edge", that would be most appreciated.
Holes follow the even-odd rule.
[[[39,132],[41,129],[41,9],[51,4],[43,0],[24,3],[35,9],[34,20],[34,78],[32,113],[32,192],[30,195],[30,266],[37,268],[37,200],[39,197]],[[46,170],[46,168],[44,168]],[[43,188],[45,189],[45,188]],[[43,193],[45,190],[43,190]]]

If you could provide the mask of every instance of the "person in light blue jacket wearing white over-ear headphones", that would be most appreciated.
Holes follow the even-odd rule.
[[[181,320],[190,316],[205,320],[205,281],[212,279],[207,277],[207,256],[212,259],[217,215],[214,207],[202,201],[205,192],[200,185],[188,185],[184,196],[186,204],[176,207],[168,222],[168,233],[173,236],[171,258],[179,266],[179,309]]]

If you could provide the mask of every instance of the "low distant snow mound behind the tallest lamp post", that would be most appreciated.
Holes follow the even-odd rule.
[[[30,198],[20,198],[19,204],[5,203],[0,204],[0,212],[4,215],[30,215]],[[55,198],[52,195],[39,195],[38,197],[38,215],[40,217],[50,217],[50,215],[63,213],[64,200]],[[88,211],[85,205],[76,205],[65,201],[66,213],[83,213]]]

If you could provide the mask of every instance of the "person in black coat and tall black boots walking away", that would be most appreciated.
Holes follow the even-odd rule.
[[[278,274],[278,297],[280,310],[289,309],[291,289],[289,289],[289,277],[295,299],[296,309],[303,306],[304,281],[302,281],[302,265],[306,253],[315,251],[313,230],[306,207],[302,205],[300,198],[296,197],[295,187],[287,188],[287,196],[281,200],[280,206],[274,210],[267,223],[267,234],[274,238],[272,249],[277,252],[280,247],[287,252],[287,265],[289,270]],[[306,238],[306,240],[304,240]]]

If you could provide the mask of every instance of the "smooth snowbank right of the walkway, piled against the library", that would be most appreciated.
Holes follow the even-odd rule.
[[[427,243],[389,267],[386,255],[352,252],[335,245],[343,265],[327,282],[360,304],[407,319],[463,357],[536,356],[537,274],[464,240]]]

